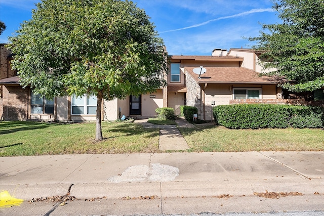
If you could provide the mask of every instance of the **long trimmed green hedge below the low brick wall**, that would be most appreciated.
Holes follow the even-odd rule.
[[[219,105],[215,122],[232,129],[323,127],[324,108],[276,104]]]

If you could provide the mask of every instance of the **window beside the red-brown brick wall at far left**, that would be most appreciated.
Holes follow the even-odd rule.
[[[49,100],[31,92],[31,114],[54,114],[54,99]]]

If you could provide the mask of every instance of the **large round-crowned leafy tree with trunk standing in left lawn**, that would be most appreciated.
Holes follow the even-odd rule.
[[[102,100],[153,92],[166,84],[166,52],[144,10],[120,0],[43,0],[10,37],[21,85],[48,98]]]

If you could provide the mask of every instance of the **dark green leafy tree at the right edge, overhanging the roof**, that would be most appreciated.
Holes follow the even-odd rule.
[[[324,1],[273,0],[282,23],[263,24],[255,49],[265,68],[294,81],[281,86],[293,92],[324,87]],[[271,60],[271,61],[269,61]]]

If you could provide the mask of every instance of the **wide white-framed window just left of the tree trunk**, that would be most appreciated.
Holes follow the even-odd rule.
[[[86,95],[84,97],[72,96],[72,114],[73,115],[87,115],[96,114],[97,97]]]

